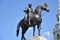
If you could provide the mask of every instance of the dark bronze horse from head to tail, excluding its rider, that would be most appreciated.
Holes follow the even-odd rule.
[[[41,12],[42,10],[49,12],[49,8],[48,5],[46,3],[38,5],[34,12],[31,14],[31,24],[25,23],[25,18],[23,18],[17,25],[17,30],[16,30],[16,36],[18,37],[19,35],[19,30],[20,27],[22,28],[22,38],[21,40],[26,40],[24,37],[24,34],[26,33],[26,31],[28,30],[29,27],[33,27],[33,36],[35,36],[35,26],[37,25],[37,29],[38,29],[38,35],[40,36],[40,26],[42,23],[42,17],[41,17]],[[27,12],[27,11],[26,11]]]

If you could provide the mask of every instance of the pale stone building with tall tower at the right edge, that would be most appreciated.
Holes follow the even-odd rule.
[[[57,23],[55,25],[55,28],[54,28],[54,40],[60,40],[60,0],[57,0],[58,1],[58,13],[56,15],[57,17]]]

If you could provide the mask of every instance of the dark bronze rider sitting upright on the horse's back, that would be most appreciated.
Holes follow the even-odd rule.
[[[25,10],[24,10],[24,12],[26,13],[26,15],[25,15],[25,21],[28,20],[28,24],[31,24],[30,23],[30,20],[31,20],[30,17],[31,17],[31,13],[33,12],[33,10],[32,10],[31,7],[32,7],[32,4],[28,4],[28,7],[26,7]]]

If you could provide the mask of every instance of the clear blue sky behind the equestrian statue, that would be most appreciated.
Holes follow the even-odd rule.
[[[18,22],[25,16],[23,10],[27,7],[28,3],[32,3],[34,10],[37,5],[45,2],[48,4],[50,12],[42,12],[42,14],[46,14],[42,17],[41,35],[48,40],[53,40],[58,0],[0,0],[0,40],[20,40],[21,30],[17,38],[16,27]],[[33,28],[26,32],[25,37],[31,38],[33,36],[32,33]],[[36,35],[37,33],[36,29]]]

